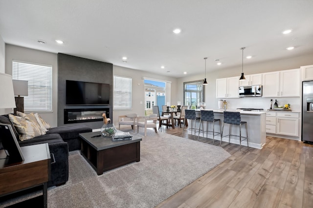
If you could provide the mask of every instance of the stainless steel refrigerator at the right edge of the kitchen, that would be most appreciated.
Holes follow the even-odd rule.
[[[313,81],[302,82],[302,141],[313,143]]]

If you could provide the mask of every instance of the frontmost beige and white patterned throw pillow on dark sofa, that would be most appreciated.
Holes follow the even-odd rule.
[[[38,125],[34,124],[32,121],[23,119],[20,116],[14,116],[12,114],[9,114],[9,118],[18,133],[21,134],[20,139],[22,141],[45,134],[45,132],[43,133],[41,128],[38,127]]]

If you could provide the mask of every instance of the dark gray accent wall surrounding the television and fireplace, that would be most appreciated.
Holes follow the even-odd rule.
[[[109,105],[66,105],[66,80],[107,83],[110,84]],[[113,115],[113,65],[112,63],[99,62],[80,58],[67,54],[58,53],[58,126],[74,125],[64,124],[64,109],[73,108],[107,108],[111,120]],[[113,121],[112,121],[113,122]],[[86,122],[84,124],[92,129],[101,128],[102,121]]]

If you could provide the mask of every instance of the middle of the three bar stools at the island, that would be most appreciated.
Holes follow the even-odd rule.
[[[199,140],[200,128],[201,128],[201,124],[202,124],[202,136],[204,137],[204,132],[206,132],[206,138],[207,138],[207,132],[213,132],[213,145],[214,145],[214,136],[221,134],[221,132],[222,132],[221,119],[214,119],[213,110],[201,110],[200,112],[201,112],[201,117],[200,117],[200,125],[199,125],[199,132],[198,132],[198,140]],[[219,122],[220,132],[216,132],[217,134],[214,135],[214,125],[215,125],[216,121]],[[203,122],[206,122],[206,131],[203,130]],[[213,124],[212,131],[208,130],[210,123]]]

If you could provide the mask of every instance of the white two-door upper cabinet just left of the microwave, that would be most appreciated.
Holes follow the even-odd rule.
[[[216,80],[216,98],[239,98],[239,77]]]

